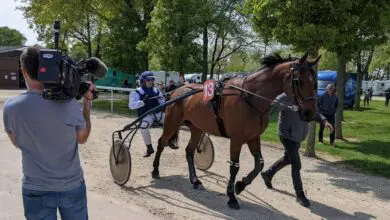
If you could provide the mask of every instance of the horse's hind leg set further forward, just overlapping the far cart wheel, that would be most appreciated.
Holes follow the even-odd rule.
[[[194,189],[198,189],[200,186],[202,186],[202,182],[200,182],[198,180],[198,177],[196,176],[194,165],[194,152],[200,142],[200,139],[202,138],[203,132],[192,124],[188,124],[188,127],[191,130],[191,139],[186,148],[186,159],[188,163],[190,182],[194,185]]]

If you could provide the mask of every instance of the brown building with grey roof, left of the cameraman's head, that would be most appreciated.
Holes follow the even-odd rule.
[[[24,46],[0,47],[0,89],[25,88],[19,57]]]

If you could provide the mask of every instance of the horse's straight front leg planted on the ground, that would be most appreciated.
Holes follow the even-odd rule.
[[[242,143],[238,141],[230,141],[230,178],[227,186],[227,196],[229,197],[228,206],[231,209],[240,209],[240,205],[234,195],[234,183],[236,176],[240,170],[240,153]]]

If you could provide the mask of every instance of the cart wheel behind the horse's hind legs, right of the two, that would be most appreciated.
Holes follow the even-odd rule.
[[[209,135],[203,134],[202,141],[195,149],[194,162],[196,168],[206,171],[214,163],[214,145]]]

